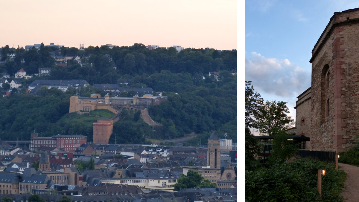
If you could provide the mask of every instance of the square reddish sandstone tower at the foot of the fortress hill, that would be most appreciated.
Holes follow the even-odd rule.
[[[113,121],[108,118],[102,118],[97,120],[97,123],[93,123],[93,143],[108,144],[112,127]]]

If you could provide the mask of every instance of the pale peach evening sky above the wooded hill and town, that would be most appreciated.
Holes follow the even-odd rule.
[[[51,42],[237,49],[236,0],[1,1],[0,47]]]

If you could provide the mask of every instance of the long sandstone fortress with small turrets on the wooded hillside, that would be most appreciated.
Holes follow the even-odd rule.
[[[144,95],[143,97],[135,95],[133,98],[110,98],[108,95],[101,98],[100,94],[92,94],[90,98],[84,98],[74,95],[70,97],[69,113],[81,110],[89,112],[94,109],[107,109],[117,114],[123,108],[128,110],[142,110],[150,104],[159,105],[164,100],[167,100],[167,97],[153,95]]]

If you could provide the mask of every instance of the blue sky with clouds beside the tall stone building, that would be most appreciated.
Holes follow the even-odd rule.
[[[312,49],[334,12],[359,1],[246,1],[246,80],[265,100],[288,102],[311,86]]]

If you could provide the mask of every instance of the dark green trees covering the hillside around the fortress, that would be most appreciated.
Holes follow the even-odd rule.
[[[82,66],[73,60],[68,60],[67,66],[55,65],[51,54],[57,52],[61,56],[82,57]],[[132,47],[115,46],[112,49],[107,46],[89,46],[84,51],[74,47],[54,50],[43,45],[39,50],[32,48],[28,51],[19,47],[1,48],[1,54],[5,53],[15,53],[14,59],[6,58],[5,64],[0,64],[0,71],[6,71],[10,75],[21,68],[27,74],[37,73],[39,67],[51,68],[50,76],[34,76],[22,80],[24,88],[11,97],[0,98],[0,114],[4,114],[0,116],[0,132],[4,132],[7,139],[18,137],[20,128],[24,135],[27,134],[27,139],[33,131],[42,132],[43,136],[62,132],[91,134],[91,128],[86,124],[74,121],[69,125],[61,125],[64,123],[62,117],[68,114],[70,96],[78,94],[89,97],[92,93],[104,96],[103,90],[87,86],[68,88],[63,93],[43,86],[37,95],[25,94],[26,85],[36,79],[84,79],[90,84],[119,85],[122,85],[123,80],[130,80],[129,86],[123,88],[149,87],[155,92],[162,92],[162,95],[168,97],[168,101],[148,108],[151,118],[163,126],[156,128],[156,135],[160,138],[197,133],[201,136],[188,144],[199,145],[200,140],[205,140],[210,131],[216,130],[221,138],[227,133],[227,138],[237,141],[237,79],[229,72],[237,69],[237,51],[195,48],[186,48],[181,52],[174,48],[149,50],[137,43]],[[219,81],[208,76],[210,71],[220,72]],[[123,91],[119,97],[132,97],[135,93]],[[144,136],[149,136],[153,127],[139,118],[140,112],[126,113],[123,117],[127,119],[116,122],[113,132],[123,135],[123,143],[145,142]],[[126,125],[135,128],[128,128]],[[111,138],[114,140],[114,137]],[[202,141],[202,144],[206,144],[206,141]]]

